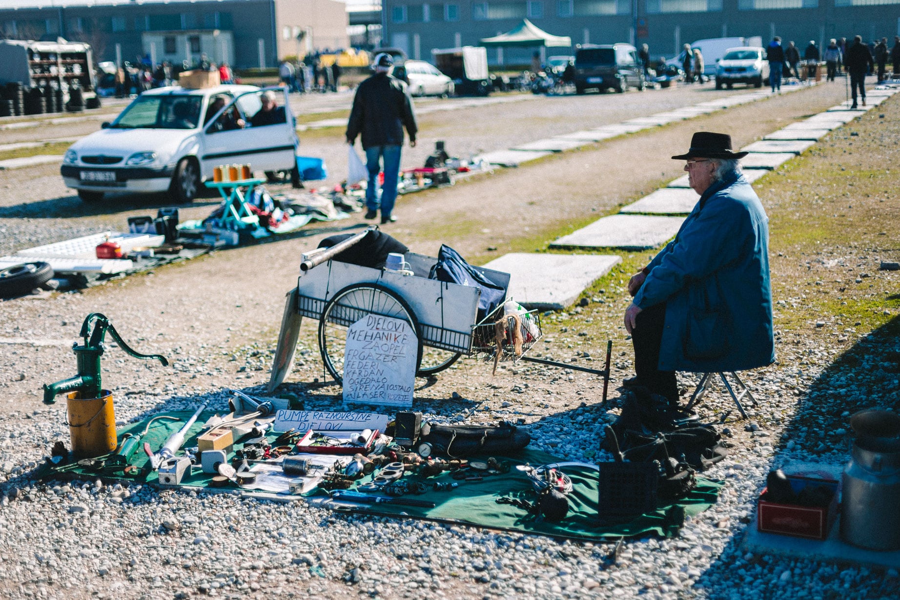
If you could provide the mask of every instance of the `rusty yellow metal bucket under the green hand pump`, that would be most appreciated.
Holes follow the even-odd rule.
[[[76,459],[93,459],[115,450],[115,411],[112,392],[99,398],[82,398],[81,392],[67,396],[67,425]]]

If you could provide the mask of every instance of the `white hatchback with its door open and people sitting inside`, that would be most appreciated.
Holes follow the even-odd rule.
[[[262,111],[256,86],[160,87],[139,95],[103,129],[67,150],[60,173],[85,202],[108,192],[168,192],[191,202],[218,165],[296,173],[297,139],[286,88]]]

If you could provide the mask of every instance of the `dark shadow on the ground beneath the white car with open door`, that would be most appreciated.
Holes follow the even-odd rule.
[[[208,199],[194,201],[187,206],[215,206],[221,200],[218,196],[206,195]],[[134,210],[151,210],[164,206],[177,206],[165,194],[153,195],[113,195],[100,202],[86,203],[77,195],[64,195],[37,202],[23,202],[18,205],[0,206],[0,219],[28,217],[30,219],[72,219],[101,214],[127,213]]]

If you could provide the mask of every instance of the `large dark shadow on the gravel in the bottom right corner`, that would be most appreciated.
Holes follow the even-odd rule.
[[[761,405],[766,407],[764,398]],[[900,316],[857,341],[825,368],[806,395],[798,400],[797,413],[785,427],[778,450],[785,450],[788,441],[793,441],[806,454],[816,456],[817,461],[842,465],[849,459],[850,438],[839,430],[850,429],[851,414],[876,407],[900,411]],[[780,464],[777,454],[772,462]],[[757,494],[763,486],[764,480],[757,482]],[[755,496],[747,502],[755,504]],[[756,513],[752,512],[743,519],[747,521],[743,527],[756,527],[755,519]],[[896,577],[864,577],[859,568],[856,572],[862,581],[844,586],[850,580],[838,574],[851,565],[834,567],[833,563],[815,562],[812,558],[804,564],[800,557],[773,563],[769,556],[760,554],[752,554],[745,560],[746,550],[741,548],[743,537],[743,530],[735,532],[725,550],[698,580],[695,589],[703,590],[704,597],[710,600],[896,598]],[[781,579],[788,566],[800,568],[802,575],[795,572]],[[876,572],[885,570],[878,566],[868,568]],[[792,583],[794,578],[798,579],[797,584]],[[809,586],[811,582],[815,587]]]

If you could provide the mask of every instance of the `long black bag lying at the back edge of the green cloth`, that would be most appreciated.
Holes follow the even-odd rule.
[[[478,425],[422,425],[420,441],[427,441],[432,449],[450,457],[473,454],[497,454],[522,450],[531,435],[515,425],[501,421],[496,427]]]

